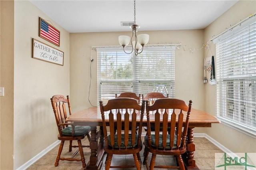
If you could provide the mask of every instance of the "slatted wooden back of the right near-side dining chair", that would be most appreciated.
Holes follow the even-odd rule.
[[[150,128],[150,111],[153,112],[155,118],[154,131],[155,131],[155,141],[156,141],[156,149],[166,148],[167,142],[170,143],[168,148],[178,149],[184,148],[186,143],[186,135],[188,131],[188,120],[190,117],[190,111],[192,108],[192,100],[189,101],[189,105],[187,106],[183,100],[179,99],[158,99],[155,101],[153,105],[150,105],[149,101],[146,101],[146,114],[147,114],[147,126],[148,126],[148,140],[149,144],[151,144],[151,128]],[[186,113],[184,113],[184,111]],[[186,116],[186,121],[184,122],[184,115]],[[176,119],[178,122],[176,123]],[[160,125],[162,124],[162,125]],[[184,126],[183,126],[184,125]],[[160,127],[162,128],[162,139],[160,139]],[[182,127],[183,135],[182,135]],[[170,139],[168,141],[168,132],[170,130],[169,135]],[[176,139],[175,139],[176,138]],[[160,141],[162,140],[162,141]],[[174,143],[176,141],[176,144]],[[162,146],[161,146],[162,145]]]

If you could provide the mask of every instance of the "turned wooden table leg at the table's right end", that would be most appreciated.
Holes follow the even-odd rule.
[[[194,127],[188,128],[187,134],[187,152],[183,155],[184,164],[186,169],[188,170],[199,170],[198,166],[196,166],[196,161],[194,159],[194,151],[196,150],[194,144]]]

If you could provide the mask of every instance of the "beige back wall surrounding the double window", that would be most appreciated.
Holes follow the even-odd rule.
[[[204,30],[176,30],[138,32],[149,34],[150,44],[182,43],[183,48],[175,50],[175,95],[177,98],[194,101],[193,107],[204,109],[204,49],[193,53],[189,50],[200,49],[204,43]],[[91,107],[88,101],[90,82],[90,57],[92,61],[92,84],[90,101],[92,105],[97,100],[97,52],[93,46],[119,45],[118,36],[131,36],[132,32],[101,32],[70,34],[70,94],[75,100],[73,108],[78,110]],[[75,111],[73,109],[73,111]]]

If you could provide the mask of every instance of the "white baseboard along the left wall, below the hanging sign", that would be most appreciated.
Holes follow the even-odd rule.
[[[60,140],[57,140],[56,142],[54,142],[53,144],[51,144],[50,146],[48,146],[47,148],[45,148],[44,150],[42,150],[42,152],[40,152],[39,154],[37,154],[34,158],[30,159],[28,162],[26,162],[25,164],[23,164],[22,166],[20,166],[19,168],[17,168],[16,170],[25,170],[28,167],[30,167],[32,164],[34,164],[37,160],[39,160],[40,158],[42,158],[42,156],[44,156],[45,154],[47,154],[47,152],[49,152],[50,150],[52,150],[55,146],[57,146],[58,144],[60,144]]]

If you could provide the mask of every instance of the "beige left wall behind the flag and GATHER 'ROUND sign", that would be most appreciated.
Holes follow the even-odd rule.
[[[39,17],[52,22],[60,31],[60,47],[38,36]],[[16,169],[57,140],[50,97],[70,94],[70,51],[69,33],[29,1],[14,1],[14,23],[13,154]],[[32,38],[63,51],[64,66],[32,58]]]

